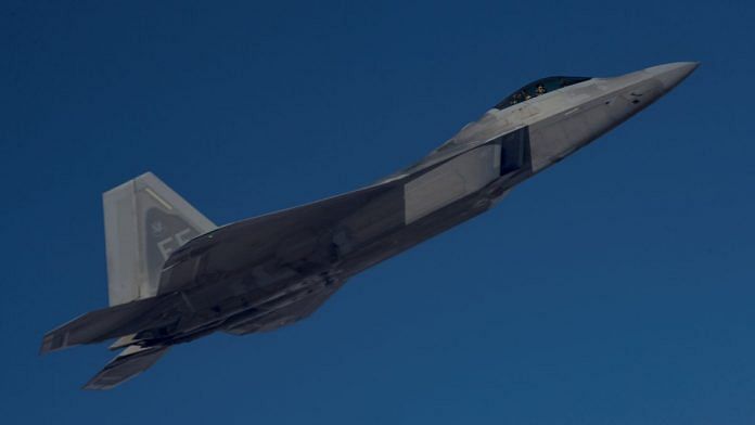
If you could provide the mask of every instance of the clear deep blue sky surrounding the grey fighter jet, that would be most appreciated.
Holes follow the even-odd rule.
[[[0,422],[754,423],[754,8],[3,2]],[[139,173],[226,223],[395,171],[539,77],[675,61],[702,65],[304,322],[105,392],[78,389],[105,345],[37,355],[106,306],[101,193]]]

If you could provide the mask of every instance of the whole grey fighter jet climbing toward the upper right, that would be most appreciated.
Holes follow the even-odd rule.
[[[114,339],[108,389],[214,332],[272,331],[350,278],[487,211],[516,184],[666,94],[698,63],[514,91],[419,163],[354,192],[216,227],[152,173],[103,194],[110,307],[44,335],[41,352]]]

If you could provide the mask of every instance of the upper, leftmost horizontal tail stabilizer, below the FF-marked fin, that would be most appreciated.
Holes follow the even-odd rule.
[[[162,298],[145,298],[115,307],[95,310],[48,332],[42,338],[40,353],[80,344],[100,343],[141,331],[148,311]]]

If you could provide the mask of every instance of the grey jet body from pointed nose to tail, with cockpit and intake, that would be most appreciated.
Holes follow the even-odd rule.
[[[695,67],[667,64],[555,90],[533,86],[535,93],[525,87],[421,162],[367,188],[369,196],[328,212],[333,218],[323,219],[327,229],[291,226],[255,252],[228,250],[238,259],[229,259],[223,270],[230,271],[210,284],[170,287],[180,293],[175,318],[137,337],[143,345],[178,344],[218,330],[246,334],[299,320],[360,271],[488,210],[514,185],[643,110]]]

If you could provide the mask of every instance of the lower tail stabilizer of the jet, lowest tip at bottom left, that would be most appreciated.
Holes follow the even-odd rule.
[[[168,348],[129,346],[94,375],[84,389],[111,389],[152,368]]]

